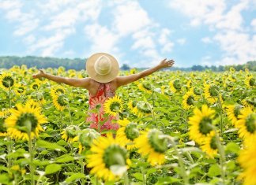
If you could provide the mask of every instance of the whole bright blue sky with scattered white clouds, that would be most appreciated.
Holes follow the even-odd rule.
[[[119,65],[238,65],[256,60],[256,0],[0,0],[0,56]]]

